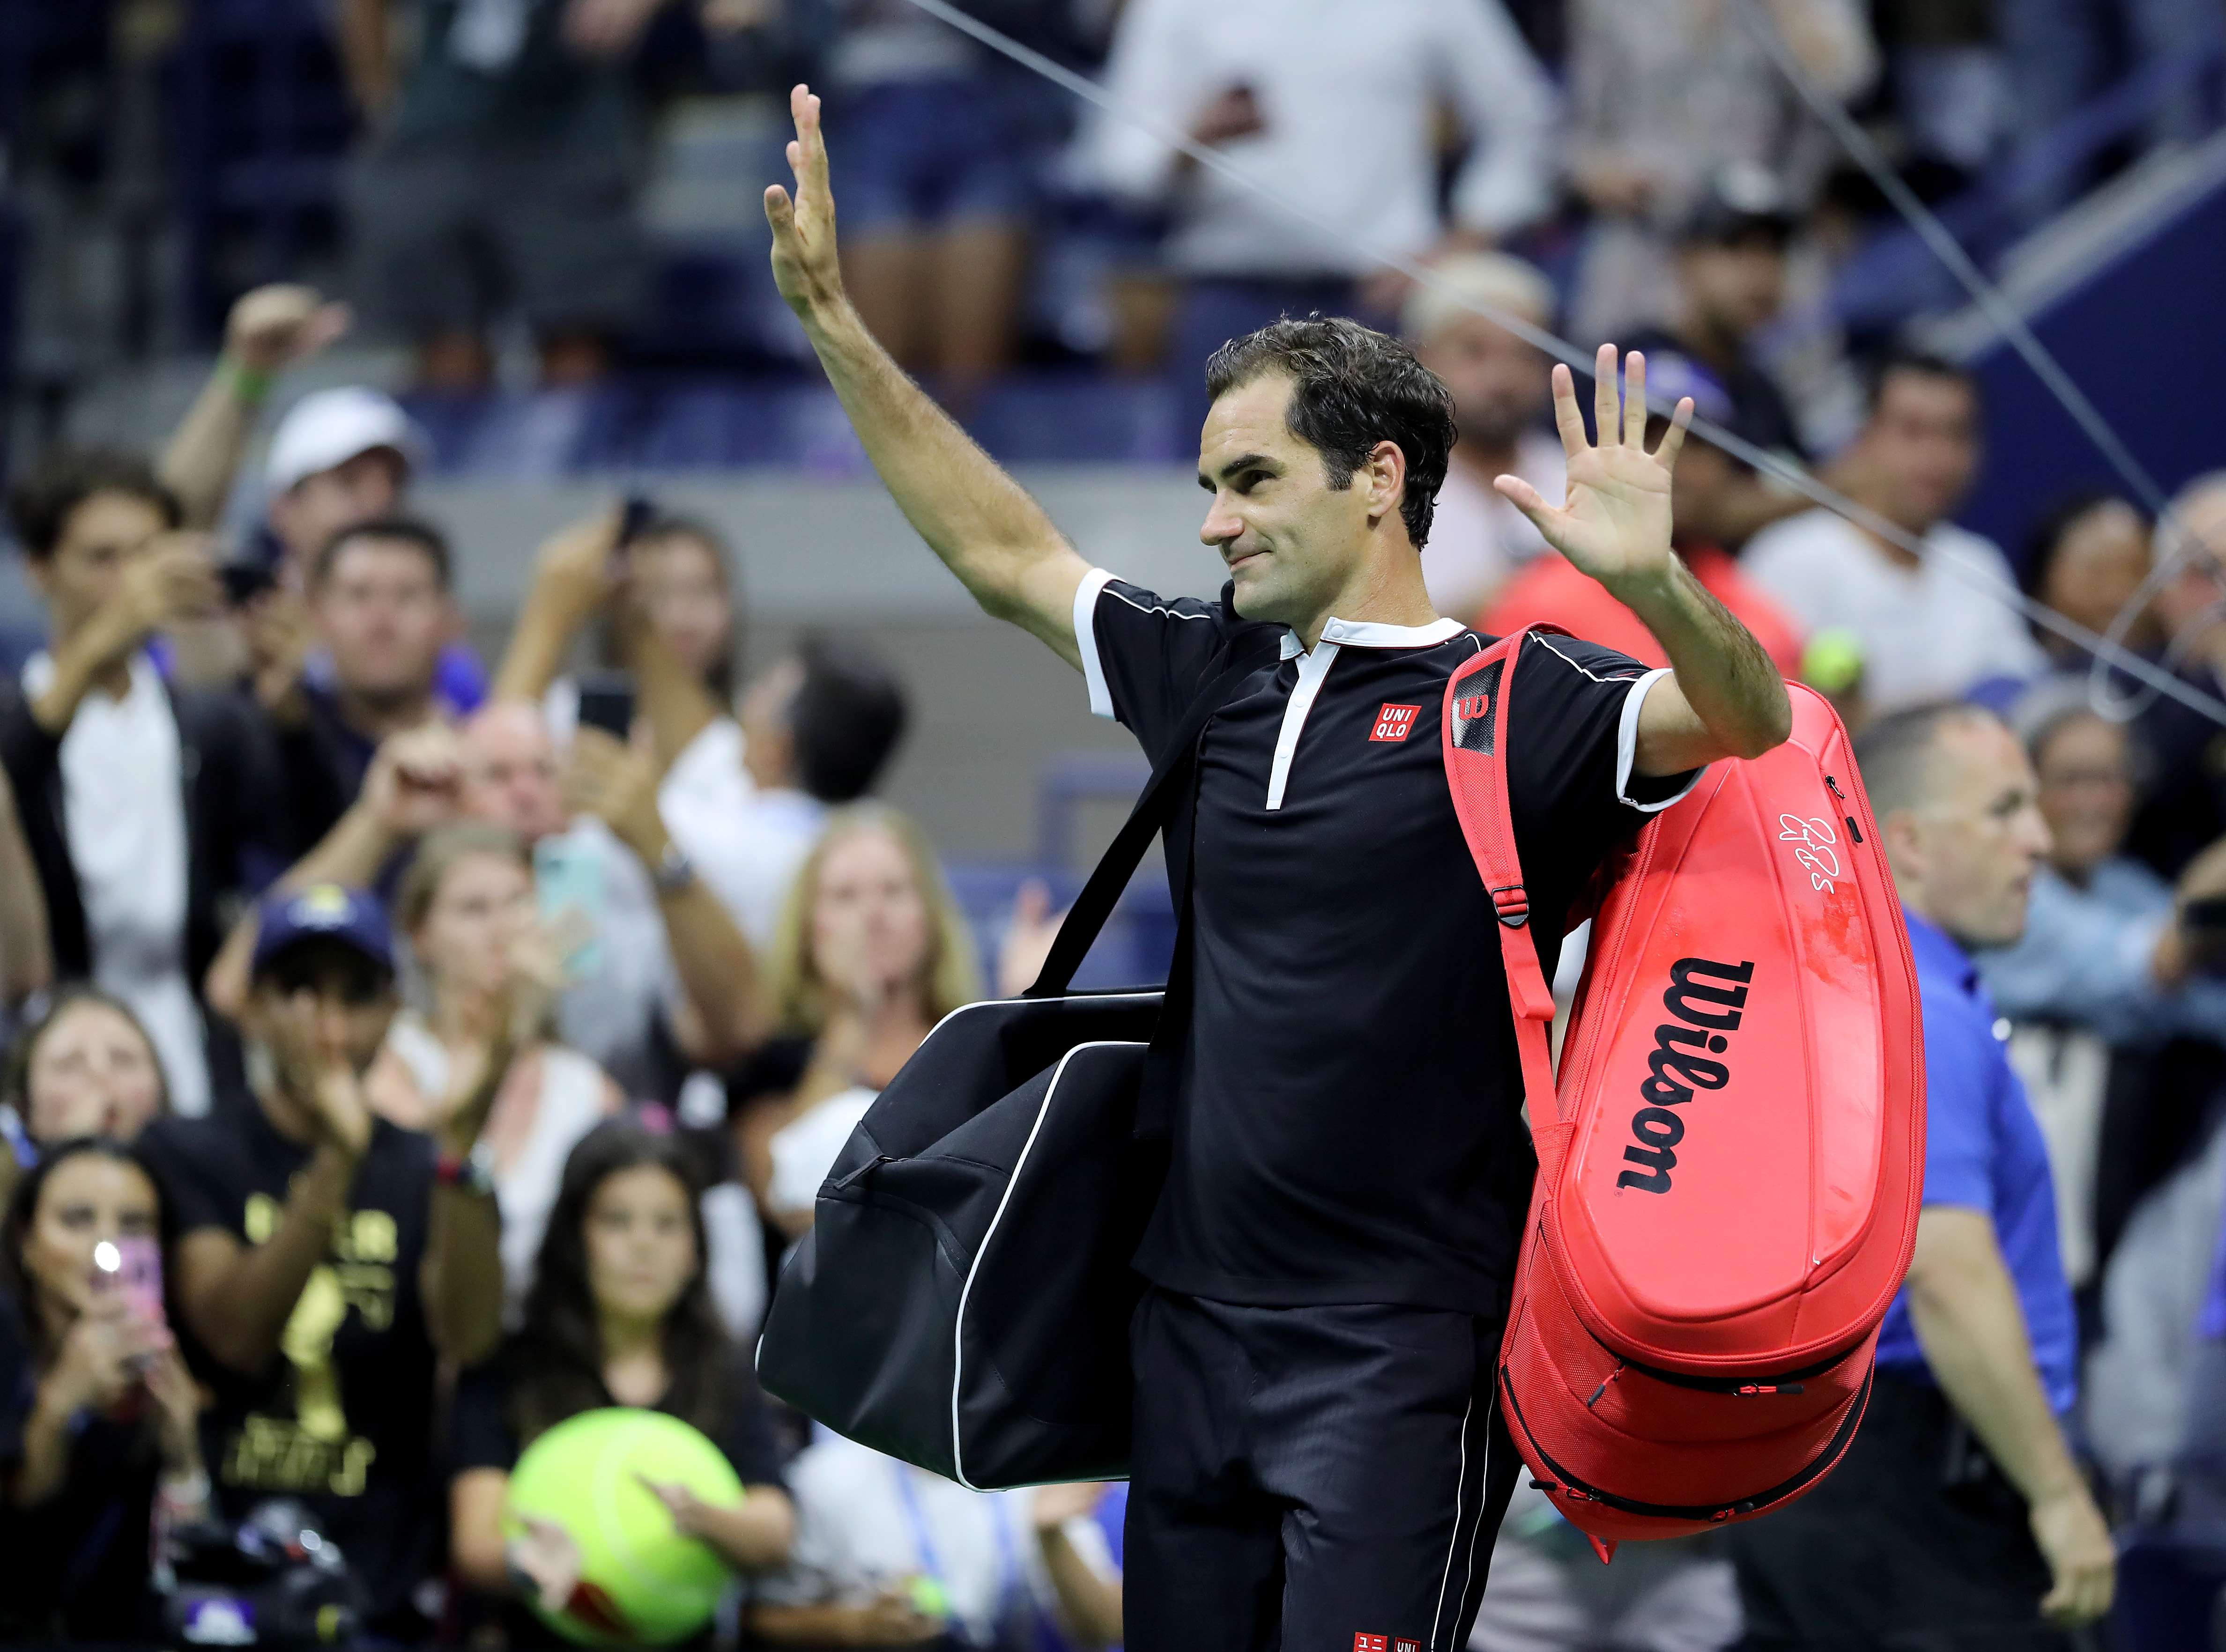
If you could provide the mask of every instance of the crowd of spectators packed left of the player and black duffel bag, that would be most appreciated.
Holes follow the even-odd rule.
[[[730,548],[619,508],[548,541],[483,670],[370,390],[294,403],[269,532],[218,566],[189,523],[243,356],[325,314],[240,309],[162,465],[196,505],[100,450],[11,499],[51,635],[0,686],[0,1636],[191,1639],[214,1585],[283,1634],[196,1570],[254,1530],[323,1556],[269,1587],[327,1628],[539,1643],[581,1556],[505,1525],[508,1476],[634,1405],[748,1487],[659,1492],[737,1579],[728,1632],[1115,1641],[1117,1494],[979,1496],[810,1440],[750,1374],[850,1124],[979,995],[873,799],[902,684],[839,637],[741,675]],[[1013,942],[1048,931],[1037,899]]]

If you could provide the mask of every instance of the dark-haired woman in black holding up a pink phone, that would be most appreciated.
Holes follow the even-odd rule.
[[[198,1396],[162,1322],[160,1209],[131,1153],[80,1135],[0,1227],[0,1639],[151,1641],[156,1507],[209,1501]]]

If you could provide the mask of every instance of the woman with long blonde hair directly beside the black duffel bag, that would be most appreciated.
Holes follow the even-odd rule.
[[[935,1022],[982,995],[982,971],[926,837],[886,804],[828,819],[766,962],[784,1033],[768,1062],[797,1075],[743,1098],[735,1135],[759,1209],[795,1238],[850,1129]]]

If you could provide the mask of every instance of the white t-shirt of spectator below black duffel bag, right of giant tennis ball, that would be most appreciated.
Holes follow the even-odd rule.
[[[855,1440],[821,1432],[788,1467],[797,1545],[788,1570],[752,1585],[766,1605],[870,1605],[877,1594],[930,1576],[951,1599],[959,1645],[1022,1652],[1053,1610],[1035,1530],[1033,1492],[968,1492]],[[1113,1576],[1104,1541],[1071,1541]]]

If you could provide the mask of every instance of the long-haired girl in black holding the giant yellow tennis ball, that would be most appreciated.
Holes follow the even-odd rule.
[[[612,1120],[572,1149],[525,1325],[499,1358],[456,1385],[450,1563],[467,1585],[505,1601],[532,1590],[550,1610],[563,1610],[579,1583],[579,1547],[550,1521],[528,1521],[523,1536],[505,1536],[510,1472],[550,1427],[608,1405],[690,1423],[741,1478],[741,1503],[726,1507],[652,1483],[679,1532],[701,1538],[737,1572],[788,1561],[795,1514],[766,1400],[748,1354],[719,1325],[703,1258],[695,1162],[679,1138]],[[548,1639],[514,1607],[508,1616],[512,1645]]]

